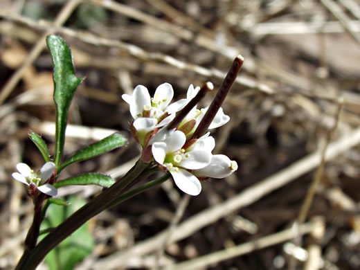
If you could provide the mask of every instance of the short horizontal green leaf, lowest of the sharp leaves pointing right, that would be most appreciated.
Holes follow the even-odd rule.
[[[62,186],[69,185],[98,185],[109,188],[113,183],[115,183],[115,180],[112,177],[109,177],[109,175],[89,173],[64,179],[55,183],[53,186],[55,186],[55,188],[61,188]]]

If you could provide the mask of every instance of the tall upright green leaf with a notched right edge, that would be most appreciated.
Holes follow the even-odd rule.
[[[65,130],[71,100],[82,78],[75,76],[69,46],[61,37],[48,35],[46,43],[53,59],[54,102],[56,111],[55,165],[58,167],[64,150]]]

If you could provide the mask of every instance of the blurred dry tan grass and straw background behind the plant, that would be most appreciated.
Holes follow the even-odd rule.
[[[52,143],[46,33],[66,39],[87,78],[71,107],[66,154],[98,131],[129,136],[120,95],[137,84],[154,91],[170,82],[180,98],[190,83],[218,87],[233,58],[245,57],[224,105],[231,123],[214,134],[215,151],[235,159],[237,173],[204,182],[198,197],[168,181],[102,213],[91,221],[96,249],[77,269],[360,268],[357,1],[2,0],[0,17],[0,269],[19,259],[32,217],[31,201],[10,177],[20,161],[42,164],[28,129]],[[138,153],[130,139],[64,174],[120,176]],[[314,177],[316,168],[323,171]]]

